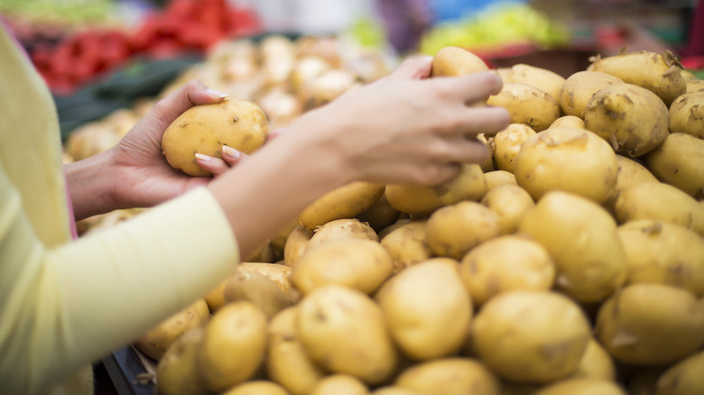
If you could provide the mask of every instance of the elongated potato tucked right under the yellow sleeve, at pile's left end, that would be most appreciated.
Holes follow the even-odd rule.
[[[190,329],[208,322],[210,310],[205,299],[199,298],[188,307],[163,320],[146,334],[134,341],[134,347],[156,361],[173,342]]]

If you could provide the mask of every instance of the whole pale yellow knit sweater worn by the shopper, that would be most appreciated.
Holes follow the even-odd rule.
[[[0,24],[0,391],[92,393],[97,361],[239,262],[207,188],[71,240],[57,115]]]

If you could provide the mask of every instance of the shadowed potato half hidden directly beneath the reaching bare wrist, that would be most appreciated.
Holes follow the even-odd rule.
[[[351,182],[329,191],[303,209],[298,216],[298,223],[307,229],[315,230],[332,220],[357,216],[371,207],[383,193],[383,184]]]

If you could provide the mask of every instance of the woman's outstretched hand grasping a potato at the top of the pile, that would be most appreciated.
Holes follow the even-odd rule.
[[[332,152],[348,181],[450,179],[459,163],[486,160],[488,149],[475,137],[504,129],[510,118],[503,107],[473,105],[501,90],[496,75],[428,78],[430,71],[431,59],[407,60],[386,78],[303,115],[281,142],[304,142],[302,155]]]

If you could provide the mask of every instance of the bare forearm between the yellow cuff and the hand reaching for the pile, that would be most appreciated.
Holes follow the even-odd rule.
[[[312,131],[292,127],[287,133]],[[334,148],[311,143],[314,139],[285,137],[208,186],[227,215],[242,256],[289,224],[316,198],[352,180]]]

